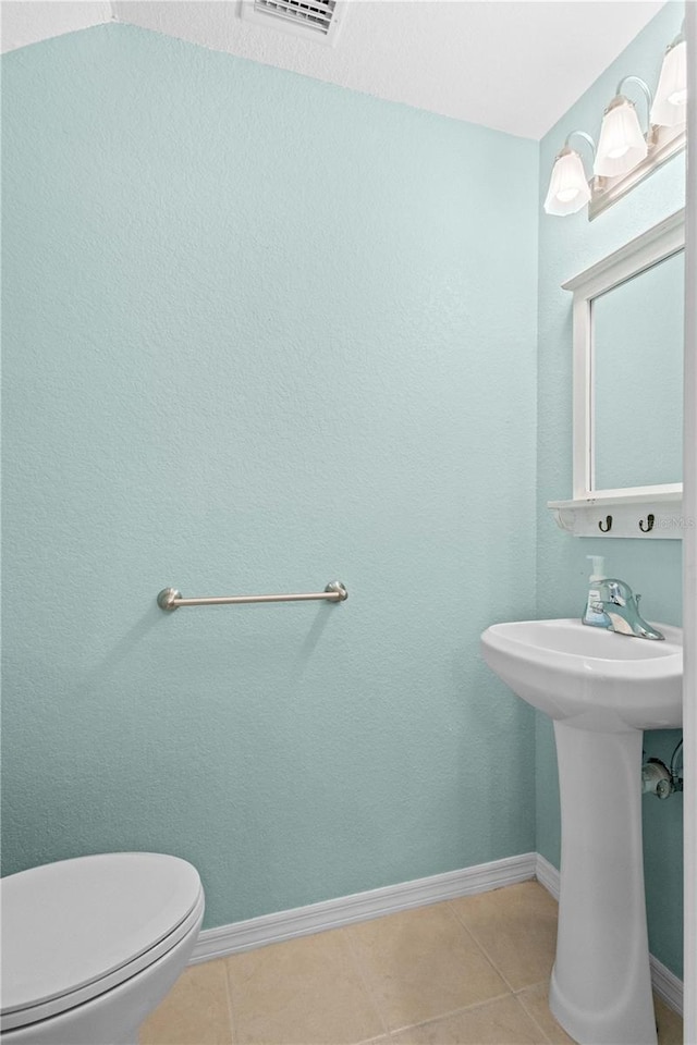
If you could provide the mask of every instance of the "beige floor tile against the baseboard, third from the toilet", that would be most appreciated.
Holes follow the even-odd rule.
[[[389,914],[346,932],[390,1030],[506,993],[448,903]]]

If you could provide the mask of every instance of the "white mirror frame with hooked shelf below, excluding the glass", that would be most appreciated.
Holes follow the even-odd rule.
[[[594,490],[592,299],[685,247],[685,209],[563,283],[573,304],[573,475],[571,501],[550,501],[559,525],[579,537],[683,536],[683,484]]]

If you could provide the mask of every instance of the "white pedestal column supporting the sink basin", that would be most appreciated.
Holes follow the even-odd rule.
[[[554,722],[562,807],[550,1009],[580,1045],[656,1045],[639,729]]]

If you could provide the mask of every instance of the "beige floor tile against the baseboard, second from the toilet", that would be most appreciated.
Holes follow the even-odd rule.
[[[384,1034],[346,932],[227,959],[237,1045],[354,1045]]]

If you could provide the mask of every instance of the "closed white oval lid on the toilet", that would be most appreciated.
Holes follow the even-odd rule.
[[[201,885],[185,860],[115,852],[2,880],[2,1012],[98,984],[172,934]],[[96,993],[96,992],[95,992]]]

